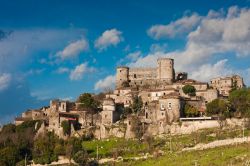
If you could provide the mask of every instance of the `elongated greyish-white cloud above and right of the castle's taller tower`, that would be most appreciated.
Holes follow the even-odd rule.
[[[167,25],[153,25],[147,33],[153,39],[173,38],[193,30],[200,19],[201,17],[198,14],[193,13],[191,16],[184,16]]]

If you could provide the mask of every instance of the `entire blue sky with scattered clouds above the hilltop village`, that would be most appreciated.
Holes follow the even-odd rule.
[[[51,98],[113,87],[118,65],[250,84],[250,1],[0,0],[0,123]]]

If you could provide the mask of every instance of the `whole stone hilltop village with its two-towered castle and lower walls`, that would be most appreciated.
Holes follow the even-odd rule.
[[[189,79],[188,73],[175,72],[174,59],[159,58],[156,68],[117,67],[115,90],[98,99],[100,106],[96,112],[83,108],[79,101],[51,100],[47,107],[23,112],[15,119],[15,124],[42,120],[38,133],[54,131],[64,138],[62,123],[67,121],[71,125],[71,135],[91,132],[93,137],[102,139],[133,138],[135,126],[140,123],[144,133],[157,135],[169,133],[171,126],[180,121],[210,119],[205,115],[207,103],[217,98],[226,99],[232,89],[244,86],[239,75],[218,77],[210,82]],[[184,87],[193,87],[193,93],[186,93]],[[128,109],[135,99],[142,105],[139,112]],[[198,110],[198,115],[187,117],[186,105]]]

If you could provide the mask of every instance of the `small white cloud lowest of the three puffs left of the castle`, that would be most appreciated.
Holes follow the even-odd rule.
[[[95,69],[93,67],[88,67],[87,63],[82,63],[75,67],[75,69],[70,71],[69,78],[70,80],[81,80],[83,75],[87,72],[93,72]]]

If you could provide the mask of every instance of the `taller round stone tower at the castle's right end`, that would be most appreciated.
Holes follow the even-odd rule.
[[[159,58],[157,63],[157,78],[160,81],[172,84],[174,80],[174,59]]]

